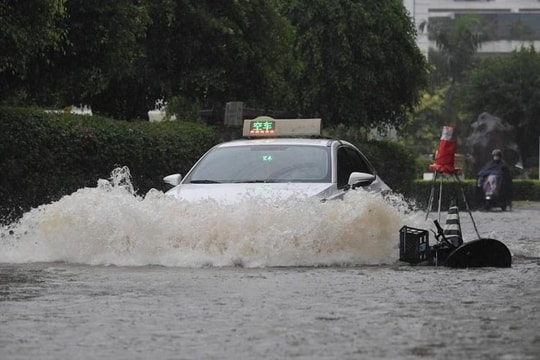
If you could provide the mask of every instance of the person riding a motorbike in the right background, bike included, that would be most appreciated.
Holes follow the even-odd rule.
[[[493,150],[491,157],[478,172],[477,186],[486,209],[499,206],[506,210],[512,204],[512,174],[500,149]]]

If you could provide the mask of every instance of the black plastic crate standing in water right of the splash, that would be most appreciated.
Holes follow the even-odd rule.
[[[399,230],[399,260],[417,264],[429,258],[429,232],[403,226]]]

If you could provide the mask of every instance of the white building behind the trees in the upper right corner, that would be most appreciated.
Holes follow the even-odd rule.
[[[492,39],[482,44],[480,54],[512,52],[533,45],[540,50],[540,0],[403,0],[414,18],[422,23],[444,21],[463,14],[475,14]],[[418,30],[418,47],[427,56],[435,42],[427,31]]]

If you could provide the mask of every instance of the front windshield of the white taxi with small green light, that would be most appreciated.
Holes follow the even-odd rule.
[[[330,182],[330,148],[246,145],[215,148],[184,183]]]

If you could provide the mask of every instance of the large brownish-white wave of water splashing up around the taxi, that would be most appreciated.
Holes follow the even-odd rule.
[[[26,213],[1,230],[0,262],[90,265],[327,266],[388,264],[399,229],[425,227],[399,198],[365,191],[321,203],[186,203],[134,194],[129,169]]]

